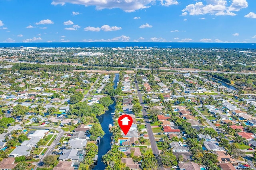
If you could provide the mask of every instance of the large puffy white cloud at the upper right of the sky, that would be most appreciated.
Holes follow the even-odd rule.
[[[247,8],[248,3],[246,0],[205,0],[203,2],[196,2],[195,4],[189,4],[182,10],[183,13],[187,12],[189,15],[204,15],[212,14],[216,16],[236,16],[235,13],[230,11],[239,11],[242,8]],[[230,4],[231,3],[231,4]],[[230,6],[228,5],[230,4]],[[183,14],[182,13],[182,14]]]

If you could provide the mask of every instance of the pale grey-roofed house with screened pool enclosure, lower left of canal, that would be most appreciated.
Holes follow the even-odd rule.
[[[64,149],[62,155],[60,155],[59,160],[66,161],[68,159],[82,162],[84,160],[85,151],[77,149]]]

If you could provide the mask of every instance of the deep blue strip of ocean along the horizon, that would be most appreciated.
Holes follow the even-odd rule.
[[[167,43],[167,42],[68,42],[68,43],[0,43],[0,47],[158,47],[158,48],[238,48],[256,49],[254,43]]]

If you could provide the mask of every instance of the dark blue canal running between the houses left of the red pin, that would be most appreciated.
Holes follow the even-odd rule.
[[[114,89],[116,89],[117,82],[119,81],[119,74],[115,74],[114,79]],[[113,119],[111,113],[115,111],[116,102],[108,107],[108,111],[106,111],[103,115],[98,117],[100,121],[100,125],[105,132],[104,137],[100,140],[99,152],[98,152],[98,164],[94,167],[94,170],[104,170],[106,165],[101,161],[101,158],[104,154],[111,149],[111,133],[108,131],[108,125],[113,125]]]

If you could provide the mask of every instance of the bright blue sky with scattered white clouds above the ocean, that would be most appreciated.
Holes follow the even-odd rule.
[[[255,27],[256,0],[0,0],[0,43],[256,43]]]

